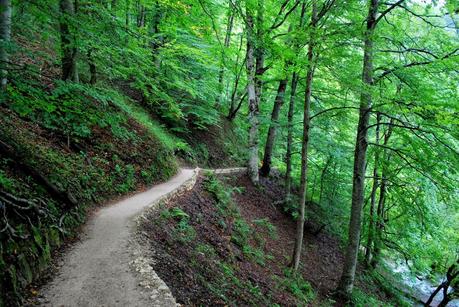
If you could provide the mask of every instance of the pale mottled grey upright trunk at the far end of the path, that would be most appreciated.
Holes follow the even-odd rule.
[[[255,63],[253,17],[247,10],[247,96],[249,101],[249,163],[248,173],[250,180],[257,184],[258,177],[258,99],[255,93]]]

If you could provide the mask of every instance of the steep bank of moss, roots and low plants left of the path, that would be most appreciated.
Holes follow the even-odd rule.
[[[91,206],[166,180],[178,168],[176,138],[128,107],[121,94],[66,93],[59,103],[78,103],[72,112],[86,112],[78,122],[65,117],[70,111],[37,107],[36,97],[20,88],[10,89],[11,103],[0,104],[0,141],[7,149],[0,151],[0,306],[20,304]],[[37,174],[71,202],[57,199]]]

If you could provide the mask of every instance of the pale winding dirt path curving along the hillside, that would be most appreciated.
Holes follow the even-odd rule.
[[[67,253],[57,276],[41,291],[44,306],[175,306],[169,288],[154,298],[142,290],[129,266],[133,219],[157,199],[189,181],[181,169],[171,180],[98,211],[82,239]],[[162,281],[160,281],[161,283]]]

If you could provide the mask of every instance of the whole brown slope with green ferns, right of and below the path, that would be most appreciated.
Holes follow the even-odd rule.
[[[278,207],[282,186],[261,178],[256,187],[245,174],[219,179],[223,183],[200,176],[193,190],[150,212],[141,225],[153,251],[153,269],[177,302],[341,305],[331,299],[342,270],[339,240],[311,222],[305,229],[301,274],[291,274],[287,267],[296,223]],[[357,287],[375,298],[364,298],[361,306],[391,300],[368,280],[358,280]]]

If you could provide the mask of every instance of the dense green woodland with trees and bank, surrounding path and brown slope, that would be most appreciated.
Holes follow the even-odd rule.
[[[0,14],[0,305],[88,207],[179,164],[278,178],[292,271],[305,221],[342,242],[337,300],[358,263],[387,261],[435,280],[442,306],[459,297],[456,0],[0,0]]]

